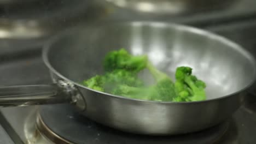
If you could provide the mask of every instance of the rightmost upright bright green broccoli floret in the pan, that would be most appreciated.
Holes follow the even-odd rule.
[[[178,67],[175,77],[175,88],[178,92],[178,97],[174,98],[174,101],[198,101],[206,99],[206,84],[192,75],[192,68]]]

